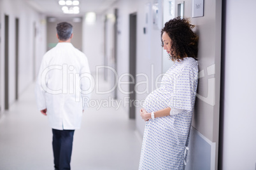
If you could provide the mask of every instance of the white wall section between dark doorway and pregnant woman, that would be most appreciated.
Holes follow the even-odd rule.
[[[146,25],[146,6],[152,9],[153,1],[143,1],[139,6],[138,10],[138,39],[137,39],[137,70],[138,73],[144,73],[148,75],[149,86],[148,93],[151,93],[157,87],[155,86],[155,79],[162,74],[162,46],[160,29],[153,27],[153,14],[150,10],[148,13],[148,24]],[[161,20],[162,14],[159,15]],[[143,27],[146,27],[147,33],[143,34]],[[148,41],[150,41],[148,43]],[[171,67],[171,65],[170,65]],[[144,77],[138,77],[138,82],[145,81]],[[140,87],[139,91],[143,91],[145,87]],[[148,93],[136,95],[137,100],[145,100]],[[136,108],[136,126],[139,133],[143,134],[145,128],[145,121],[139,116],[140,107]]]

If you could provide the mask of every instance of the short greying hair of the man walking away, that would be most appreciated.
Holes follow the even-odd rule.
[[[57,24],[57,34],[61,41],[66,41],[71,37],[73,26],[68,22],[60,22]]]

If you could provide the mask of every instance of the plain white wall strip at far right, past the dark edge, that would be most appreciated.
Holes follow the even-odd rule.
[[[255,0],[227,0],[222,169],[256,164]]]

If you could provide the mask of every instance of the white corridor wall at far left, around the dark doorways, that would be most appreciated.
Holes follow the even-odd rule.
[[[45,16],[32,10],[24,1],[0,1],[1,47],[0,47],[0,104],[4,108],[4,15],[9,16],[9,101],[15,101],[15,18],[19,19],[19,63],[18,94],[20,95],[33,81],[33,39],[34,23],[37,27],[35,37],[35,64],[39,65],[45,53]]]

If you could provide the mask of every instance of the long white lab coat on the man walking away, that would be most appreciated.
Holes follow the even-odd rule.
[[[47,108],[51,128],[80,128],[92,82],[87,57],[70,42],[59,42],[43,56],[35,93],[38,109]]]

